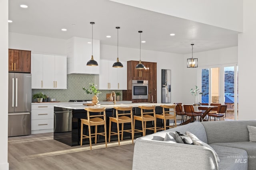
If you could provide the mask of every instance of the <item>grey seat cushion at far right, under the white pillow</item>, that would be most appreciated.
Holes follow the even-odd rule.
[[[256,167],[256,143],[254,143],[254,142],[231,142],[231,143],[214,143],[214,145],[233,147],[233,148],[245,150],[248,154],[248,170],[255,169],[255,167]],[[244,159],[244,158],[242,158],[242,159]],[[220,161],[221,161],[221,159],[220,159]]]

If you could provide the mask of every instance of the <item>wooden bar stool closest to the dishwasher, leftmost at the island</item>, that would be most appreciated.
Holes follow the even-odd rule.
[[[105,143],[107,147],[107,132],[106,132],[106,107],[101,108],[85,108],[87,111],[87,119],[81,119],[81,139],[80,145],[83,144],[83,139],[89,138],[90,149],[92,150],[92,137],[95,138],[95,144],[97,143],[97,135],[102,135],[105,137]],[[101,114],[103,112],[103,115]],[[91,115],[91,113],[94,113]],[[95,113],[99,113],[95,115]],[[103,119],[101,118],[103,117]],[[83,135],[84,125],[88,125],[89,136]],[[97,132],[98,125],[104,125],[104,132]],[[95,133],[91,133],[91,126],[95,126]]]

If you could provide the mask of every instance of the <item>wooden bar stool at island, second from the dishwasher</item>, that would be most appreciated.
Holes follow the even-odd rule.
[[[116,117],[109,117],[109,136],[108,142],[110,142],[110,137],[112,135],[118,136],[118,145],[120,145],[120,132],[121,132],[121,140],[123,140],[124,132],[132,133],[132,143],[134,139],[134,130],[133,130],[133,123],[132,123],[132,106],[130,107],[114,107],[116,109]],[[116,123],[117,126],[117,133],[111,130],[112,122]],[[119,129],[119,124],[122,123],[122,130]],[[124,130],[124,123],[131,123],[131,128]]]

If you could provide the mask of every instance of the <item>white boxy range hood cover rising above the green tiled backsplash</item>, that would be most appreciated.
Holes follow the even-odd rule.
[[[68,74],[100,74],[100,40],[72,37],[67,40]],[[93,53],[92,53],[93,45]],[[87,66],[93,54],[98,66]]]

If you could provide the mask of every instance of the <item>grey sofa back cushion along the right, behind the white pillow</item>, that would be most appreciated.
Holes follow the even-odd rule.
[[[256,126],[251,121],[204,121],[208,144],[249,141],[247,125]],[[191,131],[190,131],[191,132]],[[193,132],[191,132],[193,133]],[[193,133],[196,135],[195,133]],[[196,135],[198,137],[198,135]],[[199,138],[200,139],[200,138]],[[203,141],[204,142],[204,141]]]

